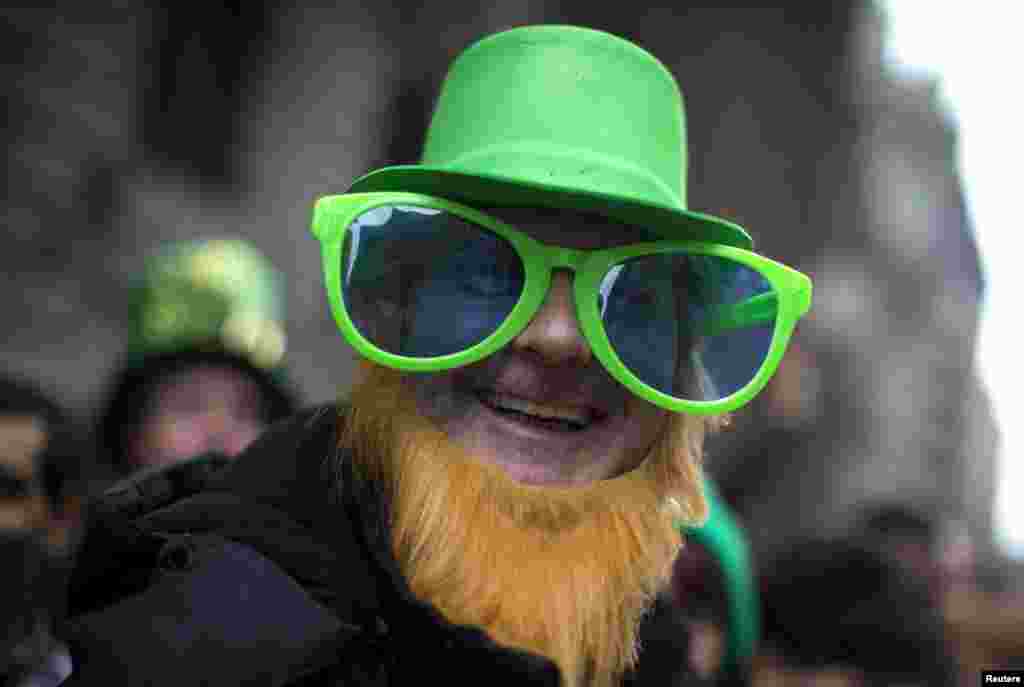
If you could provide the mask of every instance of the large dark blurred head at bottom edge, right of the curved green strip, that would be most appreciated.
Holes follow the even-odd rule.
[[[766,566],[760,590],[754,687],[957,684],[927,588],[859,543],[795,543]]]

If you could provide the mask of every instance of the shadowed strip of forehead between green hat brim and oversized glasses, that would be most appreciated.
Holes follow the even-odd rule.
[[[657,239],[643,227],[575,210],[485,208],[483,211],[541,243],[565,248],[597,250]]]

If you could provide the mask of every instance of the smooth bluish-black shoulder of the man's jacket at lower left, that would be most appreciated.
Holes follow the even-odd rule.
[[[358,630],[251,547],[169,538],[150,584],[62,628],[70,685],[286,685]]]

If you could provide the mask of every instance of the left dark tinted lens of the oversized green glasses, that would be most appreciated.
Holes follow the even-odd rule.
[[[525,271],[510,243],[457,215],[384,206],[346,229],[342,300],[370,343],[435,357],[480,343],[522,294]]]

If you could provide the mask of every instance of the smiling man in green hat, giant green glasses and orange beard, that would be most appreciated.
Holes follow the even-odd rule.
[[[685,209],[684,145],[675,81],[632,43],[468,48],[422,164],[317,204],[347,406],[101,504],[69,684],[615,684],[705,517],[705,431],[810,304]]]

